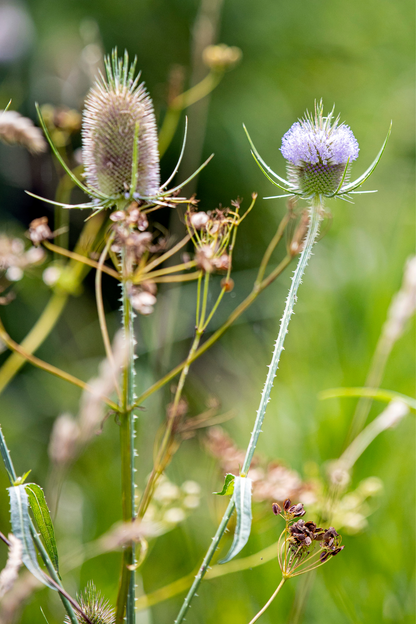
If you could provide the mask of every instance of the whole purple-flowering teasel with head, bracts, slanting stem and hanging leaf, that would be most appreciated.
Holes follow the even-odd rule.
[[[272,360],[260,399],[260,405],[247,446],[245,459],[239,475],[227,475],[221,494],[231,495],[227,509],[219,524],[210,547],[199,567],[195,580],[185,597],[175,624],[184,621],[190,603],[198,590],[211,560],[218,549],[220,540],[227,530],[228,522],[236,510],[237,522],[231,548],[220,563],[227,563],[237,555],[247,543],[251,530],[251,481],[248,477],[250,465],[257,442],[262,431],[267,404],[273,381],[277,373],[280,356],[284,349],[284,341],[288,333],[289,323],[297,301],[297,292],[302,282],[305,268],[312,255],[313,246],[318,238],[319,227],[325,215],[326,199],[339,198],[352,201],[352,195],[375,191],[358,190],[368,180],[377,167],[387,140],[386,139],[370,167],[353,182],[350,182],[351,163],[358,158],[359,146],[349,126],[340,123],[340,117],[334,117],[334,108],[324,115],[323,102],[315,101],[314,113],[306,112],[303,119],[295,122],[283,136],[281,152],[287,161],[288,179],[276,174],[262,159],[244,126],[251,146],[251,153],[266,178],[284,194],[269,196],[265,199],[290,198],[303,199],[308,205],[308,225],[298,264],[292,277],[292,284],[286,299],[285,309],[280,321],[279,333],[274,345]]]

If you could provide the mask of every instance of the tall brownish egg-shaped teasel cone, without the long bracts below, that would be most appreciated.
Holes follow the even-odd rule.
[[[153,103],[136,61],[117,51],[105,60],[83,113],[82,149],[87,186],[113,199],[134,193],[153,197],[160,188],[159,152]]]

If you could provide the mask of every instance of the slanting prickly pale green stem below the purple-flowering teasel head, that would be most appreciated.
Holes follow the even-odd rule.
[[[303,246],[303,250],[299,256],[299,260],[298,260],[298,265],[296,267],[295,273],[292,277],[292,284],[290,286],[290,290],[289,290],[289,294],[287,296],[286,299],[286,305],[285,305],[285,309],[283,312],[283,316],[282,319],[280,321],[280,329],[279,329],[279,334],[277,336],[277,340],[275,343],[275,347],[274,347],[274,352],[273,352],[273,356],[272,356],[272,361],[270,363],[269,366],[269,371],[267,373],[267,378],[266,378],[266,383],[264,385],[263,388],[263,392],[261,395],[261,399],[260,399],[260,405],[259,405],[259,409],[257,411],[257,417],[256,417],[256,421],[254,423],[254,429],[252,431],[251,434],[251,438],[250,438],[250,442],[246,451],[246,456],[244,459],[244,463],[243,463],[243,467],[241,470],[240,475],[246,477],[247,473],[250,469],[250,464],[251,461],[253,459],[253,455],[254,455],[254,451],[256,450],[256,445],[257,445],[257,441],[259,439],[259,435],[261,432],[261,427],[263,424],[263,420],[264,420],[264,416],[266,414],[266,408],[267,408],[267,404],[270,400],[270,393],[273,387],[273,381],[274,378],[276,376],[276,372],[279,366],[279,361],[280,361],[280,355],[283,351],[283,345],[284,345],[284,341],[286,338],[286,334],[288,332],[288,327],[289,327],[289,323],[290,323],[290,319],[291,316],[293,314],[293,309],[296,303],[296,299],[297,299],[297,291],[298,288],[302,282],[302,277],[303,274],[305,272],[305,268],[306,265],[308,264],[309,258],[311,256],[312,253],[312,247],[315,243],[315,240],[318,236],[318,231],[319,231],[319,224],[321,221],[321,212],[322,212],[322,201],[321,198],[316,198],[313,200],[312,205],[310,207],[310,219],[309,219],[309,226],[308,226],[308,231],[306,234],[306,239],[304,242],[304,246]],[[177,619],[175,620],[175,624],[180,624],[181,622],[183,622],[184,617],[189,609],[190,603],[192,598],[194,597],[200,582],[202,581],[205,572],[208,569],[209,564],[211,563],[211,559],[214,556],[214,553],[217,549],[217,546],[222,538],[222,536],[225,533],[225,530],[227,528],[228,522],[232,516],[232,513],[234,511],[234,500],[233,498],[231,498],[230,502],[228,503],[228,507],[224,513],[224,516],[221,520],[221,523],[217,529],[217,532],[215,534],[215,536],[212,539],[212,543],[207,551],[207,554],[205,555],[204,561],[202,562],[202,565],[198,571],[198,574],[195,577],[195,580],[192,584],[191,589],[189,590],[183,605],[181,607],[181,610],[179,611],[179,615],[177,617]],[[283,583],[282,583],[283,584]],[[280,586],[279,588],[280,589]],[[277,593],[277,591],[275,592]],[[274,598],[274,595],[273,597]],[[267,606],[270,604],[271,600],[269,601],[269,603],[267,603]],[[260,612],[261,615],[261,612]],[[253,620],[255,621],[255,620]]]

